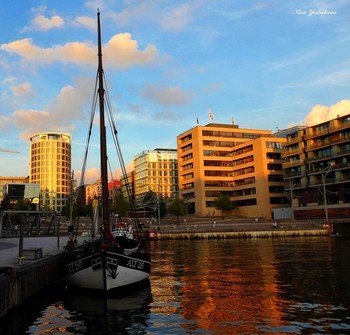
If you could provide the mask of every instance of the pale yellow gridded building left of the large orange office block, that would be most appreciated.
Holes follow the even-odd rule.
[[[153,191],[163,198],[178,195],[176,149],[154,149],[134,158],[135,197]]]

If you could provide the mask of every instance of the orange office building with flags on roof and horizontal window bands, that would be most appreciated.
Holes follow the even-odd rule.
[[[196,126],[177,137],[180,195],[188,213],[215,213],[220,194],[237,205],[235,215],[272,218],[272,210],[287,206],[282,150],[284,138],[269,130],[237,125]]]

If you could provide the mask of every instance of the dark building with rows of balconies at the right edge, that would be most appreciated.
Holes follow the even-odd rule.
[[[297,129],[285,148],[294,218],[350,218],[350,114]]]

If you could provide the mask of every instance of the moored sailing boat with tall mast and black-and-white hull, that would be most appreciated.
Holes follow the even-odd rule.
[[[73,239],[67,245],[69,251],[64,264],[65,276],[73,286],[111,292],[123,290],[147,282],[151,270],[150,255],[145,251],[142,226],[136,224],[139,231],[137,245],[121,245],[111,232],[111,215],[109,211],[108,174],[107,174],[107,140],[105,127],[105,89],[102,66],[101,25],[100,13],[97,12],[98,26],[98,71],[96,86],[100,112],[100,159],[101,159],[101,207],[102,207],[102,236],[92,239],[82,246],[75,246]],[[98,83],[98,85],[97,85]],[[110,115],[109,115],[110,116]],[[91,133],[92,120],[90,120]],[[116,135],[116,130],[114,135]],[[115,139],[114,139],[115,140]],[[119,142],[117,142],[119,148]],[[119,148],[120,149],[120,148]],[[86,150],[86,155],[87,155]],[[124,177],[126,170],[118,151]],[[85,157],[86,158],[86,157]],[[141,226],[141,227],[140,227]]]

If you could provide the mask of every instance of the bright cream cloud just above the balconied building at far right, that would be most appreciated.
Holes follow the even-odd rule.
[[[346,114],[350,114],[350,100],[341,100],[331,106],[316,105],[306,116],[305,124],[310,127]]]

